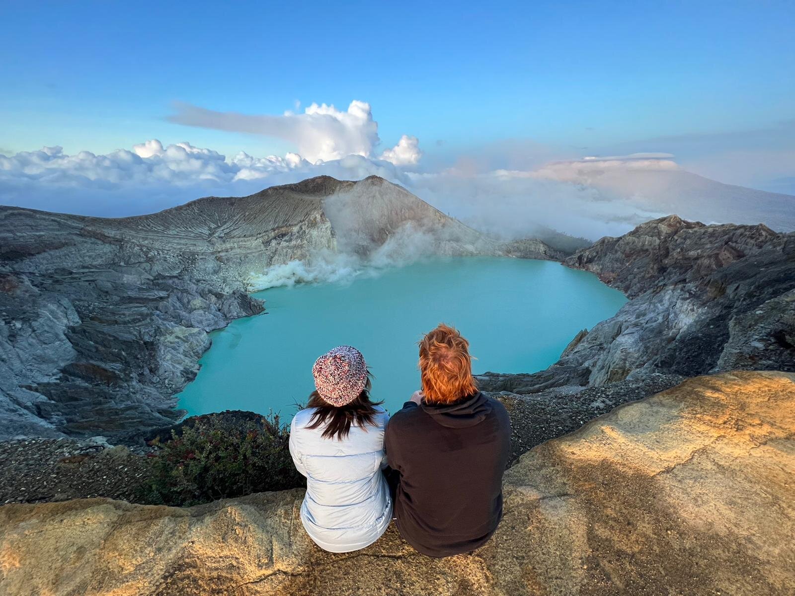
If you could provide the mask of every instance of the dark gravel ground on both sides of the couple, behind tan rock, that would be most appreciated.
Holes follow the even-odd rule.
[[[682,380],[675,375],[651,374],[639,381],[589,389],[562,387],[529,395],[491,395],[510,413],[514,462],[539,443],[575,431],[619,404],[669,389]],[[148,469],[144,454],[111,447],[99,439],[0,442],[0,505],[86,497],[135,502]]]

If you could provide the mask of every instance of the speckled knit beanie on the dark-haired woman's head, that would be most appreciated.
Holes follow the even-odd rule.
[[[362,393],[367,384],[367,364],[355,347],[339,346],[315,361],[312,376],[320,397],[339,408]]]

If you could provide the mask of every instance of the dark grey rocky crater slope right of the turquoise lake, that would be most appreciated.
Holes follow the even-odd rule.
[[[795,234],[671,215],[602,238],[564,262],[630,301],[580,332],[547,370],[490,373],[483,389],[530,394],[651,373],[795,371]]]

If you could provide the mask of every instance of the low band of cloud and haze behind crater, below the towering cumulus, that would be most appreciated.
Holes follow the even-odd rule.
[[[704,223],[795,230],[792,195],[709,180],[667,154],[556,161],[521,170],[458,164],[429,171],[390,153],[310,163],[294,153],[225,157],[189,143],[159,141],[107,155],[70,156],[56,147],[0,155],[0,203],[83,215],[142,215],[203,195],[251,195],[317,175],[381,176],[469,226],[508,239],[544,237],[551,229],[594,241],[672,213]]]

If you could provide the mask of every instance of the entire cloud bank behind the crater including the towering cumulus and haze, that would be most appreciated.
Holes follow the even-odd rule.
[[[510,169],[494,168],[488,154],[460,157],[452,168],[429,168],[421,163],[417,137],[403,135],[393,148],[378,153],[378,124],[363,102],[351,103],[345,112],[312,104],[303,114],[274,117],[181,106],[174,119],[279,136],[292,141],[298,153],[227,157],[188,142],[163,145],[156,139],[105,155],[68,155],[60,147],[44,147],[0,155],[0,203],[86,215],[138,215],[200,196],[248,195],[312,176],[360,180],[375,175],[475,228],[507,238],[533,235],[547,226],[596,239],[672,212],[706,222],[795,227],[775,221],[786,219],[791,205],[786,197],[771,199],[749,189],[732,194],[684,172],[670,153],[544,161],[543,148],[512,144],[506,145],[512,153]]]

